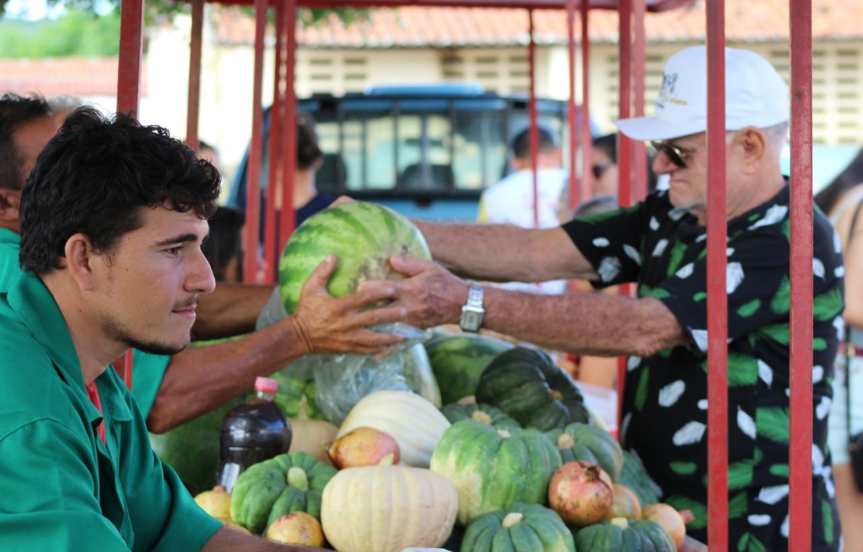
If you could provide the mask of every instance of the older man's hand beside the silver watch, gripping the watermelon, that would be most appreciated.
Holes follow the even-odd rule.
[[[468,284],[433,260],[393,255],[390,265],[406,276],[400,280],[363,282],[360,292],[396,292],[394,306],[406,310],[406,322],[417,328],[456,323],[468,297]]]

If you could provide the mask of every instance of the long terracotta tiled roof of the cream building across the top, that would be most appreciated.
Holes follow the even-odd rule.
[[[646,16],[649,41],[704,40],[704,4]],[[816,39],[863,37],[863,1],[813,0]],[[235,8],[218,8],[214,21],[217,40],[251,43],[254,22]],[[566,41],[563,10],[537,10],[534,26],[538,43]],[[576,22],[577,28],[577,22]],[[726,34],[731,41],[782,41],[788,38],[788,0],[726,0]],[[590,14],[592,41],[617,41],[617,14],[594,10]],[[507,46],[527,41],[524,9],[421,8],[406,6],[375,9],[369,21],[345,28],[336,16],[315,28],[299,31],[306,47],[452,47]]]

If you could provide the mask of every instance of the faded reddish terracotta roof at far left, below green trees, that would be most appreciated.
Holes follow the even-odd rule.
[[[147,91],[146,68],[142,73],[143,95]],[[114,96],[117,56],[0,59],[0,91],[39,92],[43,96]]]

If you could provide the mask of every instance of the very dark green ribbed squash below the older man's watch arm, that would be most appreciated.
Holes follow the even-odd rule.
[[[476,402],[541,431],[589,421],[582,393],[570,374],[538,349],[516,347],[494,357],[480,376]]]

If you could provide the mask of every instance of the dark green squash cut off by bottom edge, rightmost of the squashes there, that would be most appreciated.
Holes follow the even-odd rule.
[[[615,517],[610,522],[589,525],[576,534],[576,549],[589,552],[676,552],[671,536],[652,521],[627,521]]]

